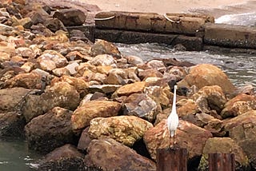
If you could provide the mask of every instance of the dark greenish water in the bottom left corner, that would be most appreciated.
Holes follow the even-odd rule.
[[[35,170],[41,156],[27,148],[22,139],[0,139],[0,170],[27,171]]]

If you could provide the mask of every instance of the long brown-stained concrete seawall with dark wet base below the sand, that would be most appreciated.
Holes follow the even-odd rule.
[[[202,14],[100,12],[94,38],[126,44],[158,42],[186,50],[223,50],[255,54],[256,27],[214,23]]]

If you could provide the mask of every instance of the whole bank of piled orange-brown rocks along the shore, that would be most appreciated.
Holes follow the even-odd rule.
[[[1,5],[0,136],[45,154],[38,170],[156,170],[156,150],[172,145],[173,83],[176,143],[197,163],[188,169],[206,170],[208,153],[234,153],[237,170],[256,169],[254,87],[234,87],[210,64],[143,62],[67,32],[85,21],[74,8]]]

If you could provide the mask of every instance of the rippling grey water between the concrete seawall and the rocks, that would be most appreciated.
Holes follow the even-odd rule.
[[[126,45],[117,44],[122,54],[135,55],[144,61],[155,58],[176,58],[194,64],[210,63],[221,68],[230,81],[240,87],[256,86],[256,56],[248,54],[211,54],[210,52],[175,51],[170,46],[152,43]]]

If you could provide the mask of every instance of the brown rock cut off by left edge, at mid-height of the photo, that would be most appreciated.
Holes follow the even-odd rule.
[[[19,110],[25,100],[24,98],[30,89],[22,87],[14,87],[10,89],[0,89],[0,113],[11,112]]]

